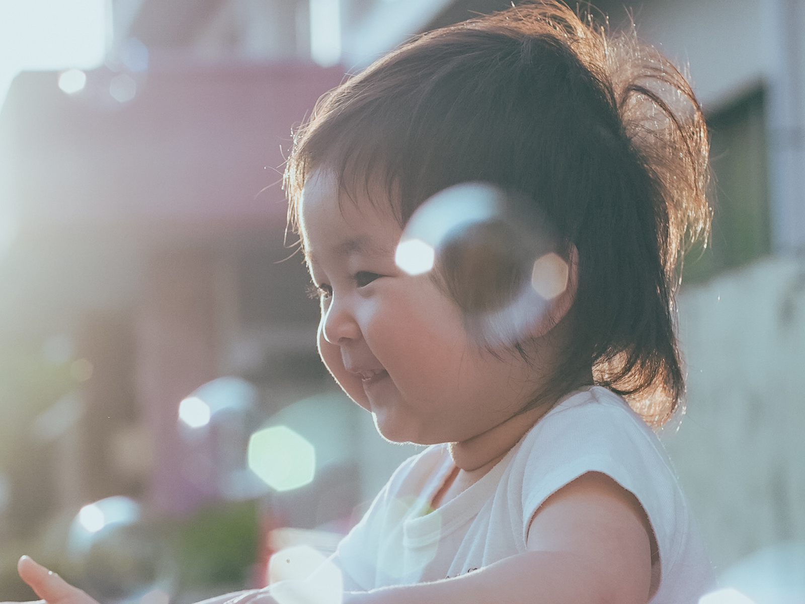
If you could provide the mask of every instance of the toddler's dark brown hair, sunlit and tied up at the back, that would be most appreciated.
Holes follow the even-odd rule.
[[[464,181],[525,194],[579,254],[549,390],[592,369],[662,425],[684,393],[675,293],[686,241],[708,231],[707,155],[690,85],[634,27],[529,3],[420,35],[322,97],[287,163],[289,221],[320,166],[345,188],[379,175],[401,224]]]

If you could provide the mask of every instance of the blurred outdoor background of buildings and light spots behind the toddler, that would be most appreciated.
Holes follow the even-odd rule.
[[[332,550],[415,449],[316,356],[291,128],[407,36],[508,4],[0,0],[0,598],[34,598],[23,553],[168,604]],[[805,3],[597,7],[689,64],[712,135],[663,440],[725,585],[805,602]]]

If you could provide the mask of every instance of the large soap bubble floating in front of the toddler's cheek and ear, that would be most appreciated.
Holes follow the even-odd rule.
[[[395,261],[433,271],[481,345],[522,341],[568,287],[569,267],[534,201],[493,184],[462,183],[430,197],[403,230]]]

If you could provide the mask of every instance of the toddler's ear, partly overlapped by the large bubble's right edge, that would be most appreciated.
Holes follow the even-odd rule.
[[[545,316],[531,331],[532,337],[543,337],[564,319],[576,300],[576,290],[579,287],[579,250],[576,246],[570,244],[566,258],[561,258],[558,254],[546,254],[537,260],[531,284],[540,295],[547,298]]]

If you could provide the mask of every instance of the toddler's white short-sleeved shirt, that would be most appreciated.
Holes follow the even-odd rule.
[[[447,445],[432,445],[400,465],[338,547],[345,590],[456,577],[526,552],[535,511],[587,472],[607,474],[646,511],[661,572],[651,604],[696,604],[715,586],[663,445],[605,388],[564,399],[492,470],[433,510],[453,467]]]

